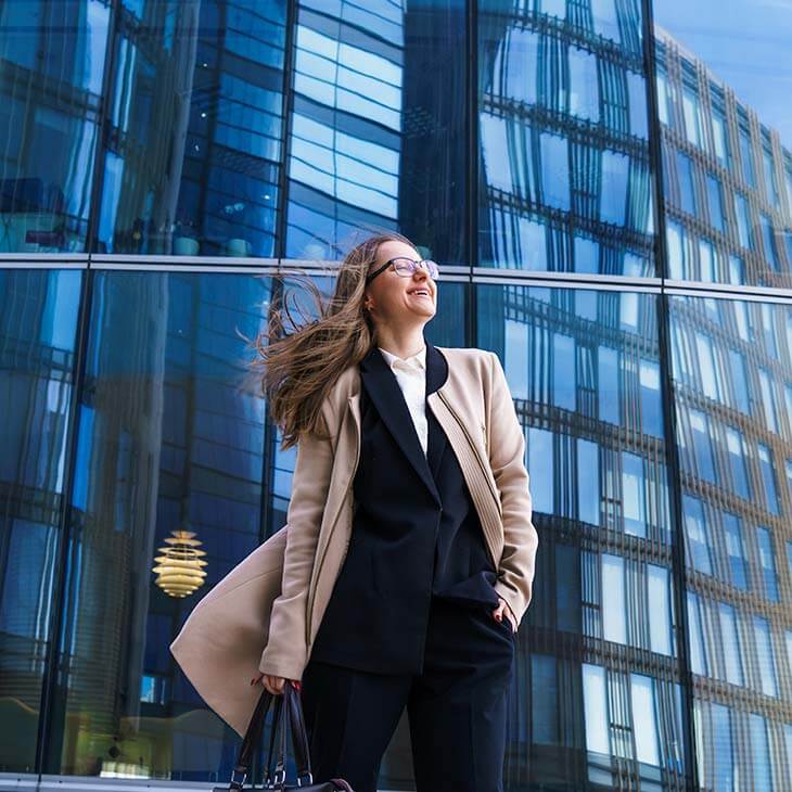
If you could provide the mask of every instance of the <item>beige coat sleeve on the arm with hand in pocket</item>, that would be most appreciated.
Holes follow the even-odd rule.
[[[525,437],[514,409],[500,359],[489,353],[489,464],[500,494],[503,522],[503,553],[495,589],[520,624],[531,602],[539,537],[532,522],[528,471],[525,468]]]

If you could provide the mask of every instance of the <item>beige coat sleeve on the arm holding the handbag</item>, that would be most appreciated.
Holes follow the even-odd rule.
[[[330,399],[322,405],[325,426],[336,425]],[[272,602],[269,637],[258,669],[263,674],[301,679],[308,662],[306,618],[308,587],[319,528],[330,488],[332,440],[306,432],[297,443],[292,494],[286,514],[281,593]]]

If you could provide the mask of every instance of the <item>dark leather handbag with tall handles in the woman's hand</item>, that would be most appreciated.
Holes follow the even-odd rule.
[[[272,731],[263,789],[276,790],[276,792],[289,792],[289,790],[301,790],[302,792],[354,792],[353,788],[342,778],[333,778],[330,781],[314,783],[314,776],[310,771],[308,733],[303,716],[303,704],[299,700],[299,692],[294,687],[294,682],[289,680],[283,686],[283,693],[281,695],[273,695],[266,689],[261,692],[261,697],[256,704],[253,717],[242,740],[237,765],[231,771],[231,782],[228,787],[215,787],[212,792],[242,792],[245,779],[247,778],[247,770],[251,767],[253,752],[261,738],[264,720],[267,717],[267,711],[273,700]],[[297,767],[296,784],[286,783],[286,721],[291,727],[292,743],[294,745],[294,762]],[[278,764],[272,774],[272,753],[276,738],[280,738],[278,740]],[[241,778],[238,778],[238,776]]]

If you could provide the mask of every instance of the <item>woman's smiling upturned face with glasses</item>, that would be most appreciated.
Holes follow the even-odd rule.
[[[414,247],[388,240],[380,245],[376,261],[369,267],[373,272],[385,261],[404,256],[413,261],[421,259]],[[365,305],[370,305],[369,316],[386,323],[425,323],[437,310],[437,283],[421,267],[411,277],[398,274],[393,267],[380,272],[366,288]]]

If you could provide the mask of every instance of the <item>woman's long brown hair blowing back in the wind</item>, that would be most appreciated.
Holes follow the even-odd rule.
[[[375,343],[375,327],[363,309],[366,276],[383,242],[405,242],[395,231],[376,233],[353,247],[337,269],[333,296],[325,301],[310,276],[290,271],[314,298],[318,319],[297,327],[288,294],[273,299],[267,329],[256,336],[252,370],[260,376],[261,391],[272,420],[280,426],[283,450],[296,445],[304,432],[328,437],[320,409],[342,371],[362,360]],[[297,327],[286,334],[288,325]]]

